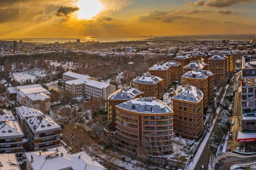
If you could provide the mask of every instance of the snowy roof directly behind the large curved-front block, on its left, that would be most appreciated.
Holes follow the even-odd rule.
[[[124,87],[122,89],[115,91],[113,94],[109,95],[108,99],[131,100],[131,99],[134,99],[134,97],[138,96],[139,94],[143,94],[143,92],[132,87]]]

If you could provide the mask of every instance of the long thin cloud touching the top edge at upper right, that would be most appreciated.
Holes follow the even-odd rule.
[[[209,6],[209,7],[228,7],[236,4],[249,3],[254,0],[198,0],[189,2],[188,5],[193,6]]]

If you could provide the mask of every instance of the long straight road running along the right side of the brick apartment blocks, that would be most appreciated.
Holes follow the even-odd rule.
[[[230,86],[234,86],[234,84],[236,83],[236,80],[237,78],[241,75],[242,72],[238,72],[235,77],[234,77],[234,82],[230,84]],[[215,115],[217,116],[217,115]],[[214,124],[213,126],[213,131],[214,132],[217,128],[217,123]],[[198,160],[197,164],[196,164],[196,167],[195,169],[201,169],[201,165],[204,165],[205,166],[205,170],[208,169],[208,164],[209,164],[209,158],[210,158],[210,155],[211,155],[211,151],[208,149],[208,146],[209,146],[209,142],[206,143],[206,146],[202,152],[202,155],[200,157],[200,159]]]

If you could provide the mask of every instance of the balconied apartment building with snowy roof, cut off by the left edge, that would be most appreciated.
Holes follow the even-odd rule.
[[[0,153],[14,153],[22,156],[24,134],[15,120],[0,121]],[[1,159],[0,159],[1,160]],[[1,161],[0,161],[1,162]]]

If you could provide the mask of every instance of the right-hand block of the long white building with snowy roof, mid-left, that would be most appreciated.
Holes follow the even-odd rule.
[[[108,96],[116,91],[116,86],[94,80],[89,80],[84,85],[86,95],[103,100],[107,100]]]

